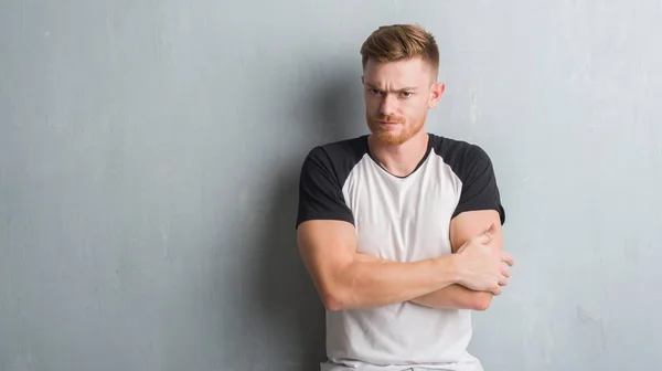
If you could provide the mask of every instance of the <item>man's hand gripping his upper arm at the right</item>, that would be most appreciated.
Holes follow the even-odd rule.
[[[459,284],[478,292],[501,294],[501,287],[508,285],[510,269],[502,263],[512,266],[513,256],[504,252],[495,252],[488,244],[492,241],[494,225],[485,232],[468,240],[456,254]]]

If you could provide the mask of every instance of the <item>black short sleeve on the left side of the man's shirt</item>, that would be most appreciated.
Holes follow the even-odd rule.
[[[320,147],[308,153],[299,179],[297,224],[309,220],[340,220],[354,224],[345,203],[341,179],[329,155]]]

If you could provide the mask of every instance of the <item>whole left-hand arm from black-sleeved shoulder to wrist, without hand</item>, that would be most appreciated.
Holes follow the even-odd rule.
[[[456,256],[399,263],[356,252],[354,219],[342,193],[343,153],[333,150],[314,148],[303,161],[297,216],[299,253],[324,306],[382,306],[458,282]]]

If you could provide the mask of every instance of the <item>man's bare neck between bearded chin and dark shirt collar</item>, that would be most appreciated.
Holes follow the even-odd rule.
[[[402,145],[386,145],[374,136],[367,137],[367,146],[372,157],[396,177],[410,174],[423,159],[428,148],[428,134],[420,130]]]

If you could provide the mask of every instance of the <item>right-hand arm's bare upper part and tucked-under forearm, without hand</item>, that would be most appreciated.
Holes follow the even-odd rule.
[[[471,236],[478,235],[492,225],[490,235],[492,242],[489,244],[494,251],[501,252],[503,237],[501,233],[501,223],[499,213],[494,210],[469,211],[459,214],[450,222],[450,242],[452,252],[458,248]],[[453,284],[440,290],[415,298],[413,303],[444,309],[473,309],[487,310],[492,301],[493,293],[474,292],[465,286]]]

